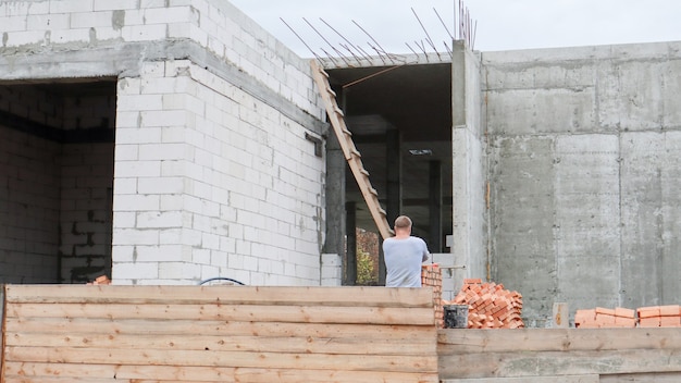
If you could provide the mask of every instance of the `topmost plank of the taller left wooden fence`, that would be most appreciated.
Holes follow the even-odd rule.
[[[10,304],[221,304],[339,307],[433,307],[432,289],[366,286],[8,285]]]

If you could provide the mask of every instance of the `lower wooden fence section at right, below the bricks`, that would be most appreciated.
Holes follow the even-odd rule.
[[[445,383],[677,383],[681,329],[438,331]]]

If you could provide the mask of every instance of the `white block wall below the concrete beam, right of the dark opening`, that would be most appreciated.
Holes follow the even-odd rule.
[[[119,83],[113,280],[319,285],[324,162],[306,128],[188,60]]]

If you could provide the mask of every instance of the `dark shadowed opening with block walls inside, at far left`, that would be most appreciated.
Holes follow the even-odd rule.
[[[81,102],[64,89],[0,86],[2,282],[85,282],[110,269],[113,146],[92,144],[92,127],[111,140],[113,97]]]

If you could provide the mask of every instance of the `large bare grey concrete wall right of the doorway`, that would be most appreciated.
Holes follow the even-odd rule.
[[[482,54],[493,279],[554,301],[678,304],[681,44]]]

